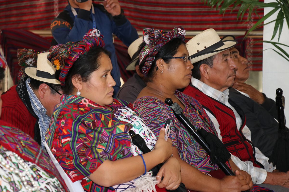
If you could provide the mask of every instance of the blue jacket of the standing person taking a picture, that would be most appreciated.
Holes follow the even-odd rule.
[[[59,44],[65,44],[69,41],[81,41],[85,33],[93,28],[92,11],[75,8],[77,12],[77,17],[75,17],[70,5],[66,6],[64,10],[69,13],[69,16],[74,22],[73,26],[70,26],[67,22],[65,23],[62,19],[55,18],[51,23],[51,31],[54,39]],[[117,64],[112,34],[116,35],[127,46],[138,38],[138,34],[123,14],[112,17],[102,5],[94,5],[94,10],[96,28],[104,36],[105,49],[111,52],[112,77],[116,82],[114,94],[116,94],[121,86],[121,74]]]

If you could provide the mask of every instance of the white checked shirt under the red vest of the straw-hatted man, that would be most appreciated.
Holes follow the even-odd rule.
[[[204,94],[206,94],[206,95],[218,100],[219,102],[225,104],[226,106],[230,107],[236,116],[237,127],[240,128],[242,126],[242,119],[241,119],[240,115],[237,113],[237,111],[234,109],[234,107],[232,107],[231,104],[229,104],[229,102],[228,102],[228,100],[229,100],[229,90],[228,89],[221,92],[221,91],[216,90],[216,89],[210,87],[209,85],[203,83],[202,81],[199,81],[198,79],[195,79],[193,77],[192,77],[192,85],[194,85],[196,88],[201,90],[201,92],[203,92]],[[210,119],[214,123],[216,131],[218,132],[219,139],[222,140],[221,130],[219,129],[220,125],[219,125],[217,119],[214,117],[214,115],[212,115],[206,109],[205,109],[205,111],[208,113],[208,116],[210,117]],[[251,131],[249,130],[249,128],[246,125],[244,126],[242,133],[244,134],[244,136],[248,140],[251,141]],[[265,155],[263,155],[263,153],[257,147],[255,147],[255,151],[256,151],[255,157],[256,157],[257,161],[260,162],[264,166],[265,169],[254,167],[253,163],[251,161],[241,161],[238,157],[236,157],[234,155],[231,155],[231,159],[232,159],[232,161],[234,161],[236,166],[238,166],[238,168],[248,172],[251,175],[253,183],[261,184],[265,181],[265,179],[267,177],[267,171],[272,172],[275,169],[275,167],[271,163],[270,164],[268,163],[269,158],[266,157]]]

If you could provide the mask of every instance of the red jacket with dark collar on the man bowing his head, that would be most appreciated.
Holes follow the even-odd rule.
[[[30,135],[41,146],[38,116],[34,113],[24,77],[18,85],[14,85],[1,95],[3,101],[0,119]]]

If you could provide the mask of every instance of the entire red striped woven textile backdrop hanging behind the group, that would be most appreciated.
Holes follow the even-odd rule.
[[[96,3],[100,2],[102,1]],[[244,22],[247,19],[245,14],[243,21],[236,20],[239,7],[235,7],[231,13],[227,11],[224,16],[219,15],[216,9],[204,5],[201,0],[119,0],[119,2],[125,10],[126,17],[138,31],[142,31],[144,27],[171,30],[176,25],[183,26],[187,31],[202,31],[207,28],[214,28],[217,31],[246,31],[259,19],[254,15],[252,20]],[[67,0],[1,0],[0,29],[50,29],[50,22],[66,5]],[[262,17],[263,9],[258,9],[257,14]],[[51,40],[51,37],[45,39]],[[259,40],[262,38],[247,39],[246,42],[248,45],[249,42]],[[23,39],[23,42],[25,41],[29,39]],[[115,43],[122,45],[117,38]],[[262,70],[262,43],[250,44],[246,56],[249,62],[253,63],[253,70]],[[123,69],[126,62],[119,62],[119,65]],[[124,70],[121,73],[124,79],[129,75]]]

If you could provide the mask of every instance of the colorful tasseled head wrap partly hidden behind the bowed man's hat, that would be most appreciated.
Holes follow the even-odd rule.
[[[44,52],[46,51],[36,51],[33,49],[17,50],[18,65],[20,66],[20,70],[17,76],[18,81],[26,76],[24,73],[24,68],[26,66],[37,66],[37,55]]]

